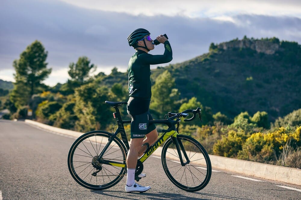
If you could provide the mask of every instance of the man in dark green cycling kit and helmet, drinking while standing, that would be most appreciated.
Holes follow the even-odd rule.
[[[172,60],[172,49],[169,41],[163,35],[156,39],[164,44],[163,55],[151,55],[148,52],[155,48],[150,32],[144,28],[138,28],[133,31],[129,37],[129,46],[134,47],[136,52],[130,58],[129,73],[129,100],[127,111],[132,117],[131,122],[131,145],[127,154],[127,179],[126,192],[145,192],[151,189],[150,186],[143,187],[135,183],[135,169],[137,165],[137,157],[140,157],[147,149],[147,144],[152,145],[157,137],[158,132],[156,126],[149,126],[148,120],[153,120],[149,113],[149,105],[151,101],[151,64],[162,64]],[[146,136],[146,139],[144,139]],[[145,177],[140,174],[139,177]]]

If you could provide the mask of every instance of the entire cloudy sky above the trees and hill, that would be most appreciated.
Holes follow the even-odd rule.
[[[70,79],[68,66],[81,56],[97,65],[95,73],[126,72],[135,50],[127,37],[145,28],[155,38],[167,34],[175,64],[208,52],[210,43],[244,35],[278,37],[301,43],[299,0],[2,0],[0,1],[0,79],[14,81],[12,63],[39,40],[48,51],[54,86]],[[151,54],[162,54],[158,45]],[[162,64],[159,66],[166,66]],[[152,66],[155,68],[157,66]]]

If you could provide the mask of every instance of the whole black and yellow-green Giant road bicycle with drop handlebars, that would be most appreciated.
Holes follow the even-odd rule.
[[[129,142],[119,112],[119,106],[127,102],[106,101],[116,112],[118,128],[112,133],[95,130],[80,136],[71,145],[68,154],[68,168],[77,183],[90,190],[105,190],[116,185],[126,175],[126,155],[129,151]],[[167,130],[157,141],[146,146],[144,154],[138,159],[135,171],[135,180],[143,171],[143,163],[154,151],[163,145],[161,160],[164,172],[169,180],[182,190],[195,192],[203,189],[211,178],[211,162],[206,150],[190,136],[179,134],[181,118],[184,121],[193,120],[197,114],[201,120],[201,109],[187,109],[180,113],[169,112],[164,120],[150,120],[149,124],[166,124]],[[116,124],[115,124],[116,125]],[[115,126],[114,125],[114,126]],[[177,125],[177,127],[175,127]],[[114,130],[114,127],[113,127]],[[117,137],[120,133],[121,139]]]

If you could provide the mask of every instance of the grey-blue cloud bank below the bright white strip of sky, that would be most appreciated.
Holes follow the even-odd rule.
[[[59,77],[60,73],[55,71],[67,69],[80,56],[87,56],[98,70],[106,73],[113,67],[126,71],[134,53],[126,38],[136,28],[148,29],[152,38],[168,35],[173,49],[171,64],[208,52],[211,42],[221,43],[244,35],[301,42],[301,19],[290,16],[135,16],[84,9],[55,0],[16,0],[2,2],[0,18],[5,19],[0,21],[0,70],[13,69],[13,60],[19,58],[26,46],[39,40],[48,51],[48,66],[53,68],[48,82],[59,80],[54,76]],[[162,54],[163,45],[156,46],[151,53]]]

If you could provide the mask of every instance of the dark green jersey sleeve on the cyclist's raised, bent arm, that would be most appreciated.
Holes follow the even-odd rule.
[[[143,64],[162,64],[172,61],[172,49],[168,40],[164,42],[164,48],[163,55],[142,54],[143,58],[141,58],[141,62]]]

